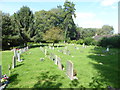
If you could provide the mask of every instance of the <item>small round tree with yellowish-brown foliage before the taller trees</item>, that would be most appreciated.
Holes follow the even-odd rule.
[[[43,39],[52,42],[54,46],[56,41],[63,40],[63,31],[58,27],[53,27],[45,32]]]

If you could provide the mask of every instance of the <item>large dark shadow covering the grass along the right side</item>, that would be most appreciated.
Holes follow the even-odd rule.
[[[104,84],[106,86],[111,86],[113,88],[119,88],[120,79],[118,73],[120,73],[120,69],[118,69],[118,53],[115,49],[111,49],[109,52],[104,52],[104,48],[94,48],[92,50],[92,55],[88,57],[94,60],[97,63],[90,62],[96,68],[100,77],[93,77],[93,82],[89,84],[91,87],[102,87]]]

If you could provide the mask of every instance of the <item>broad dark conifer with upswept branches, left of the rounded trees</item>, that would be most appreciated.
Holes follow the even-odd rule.
[[[14,13],[14,21],[18,34],[27,42],[34,36],[34,16],[29,7],[23,6],[17,13]]]

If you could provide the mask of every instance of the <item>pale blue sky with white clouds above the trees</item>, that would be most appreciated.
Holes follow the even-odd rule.
[[[118,1],[119,0],[69,0],[75,4],[77,26],[83,28],[101,28],[110,25],[114,33],[118,33]],[[40,10],[50,10],[64,4],[65,0],[0,0],[0,10],[12,15],[23,5],[28,6],[33,13]]]

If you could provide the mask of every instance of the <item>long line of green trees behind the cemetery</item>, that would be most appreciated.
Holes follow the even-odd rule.
[[[27,6],[21,7],[11,16],[2,13],[2,48],[27,45],[28,42],[69,42],[93,37],[96,33],[113,34],[113,27],[109,25],[99,29],[77,27],[73,20],[73,17],[76,17],[75,10],[74,3],[65,1],[63,6],[49,11],[37,11],[34,14]],[[53,34],[56,35],[52,37]]]

